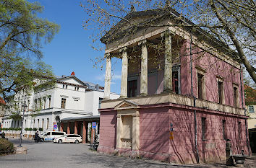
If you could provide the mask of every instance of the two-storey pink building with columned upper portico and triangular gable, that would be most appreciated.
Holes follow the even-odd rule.
[[[171,26],[176,17],[170,9],[131,12],[132,23],[166,26],[121,21],[101,38],[106,79],[98,151],[214,162],[226,159],[229,138],[234,154],[249,154],[239,63],[203,30]],[[111,57],[122,59],[118,100],[109,100]]]

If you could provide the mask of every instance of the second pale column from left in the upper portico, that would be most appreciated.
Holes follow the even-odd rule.
[[[120,98],[127,97],[127,81],[128,81],[128,58],[127,58],[127,47],[121,48],[121,92]]]

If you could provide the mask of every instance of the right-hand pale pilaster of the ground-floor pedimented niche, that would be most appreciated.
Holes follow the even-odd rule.
[[[140,149],[140,115],[133,115],[132,116],[132,150],[138,151],[139,149]]]

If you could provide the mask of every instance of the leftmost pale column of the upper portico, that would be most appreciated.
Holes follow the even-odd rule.
[[[111,83],[111,57],[110,53],[105,54],[106,57],[106,74],[104,87],[104,100],[110,100],[110,83]]]

